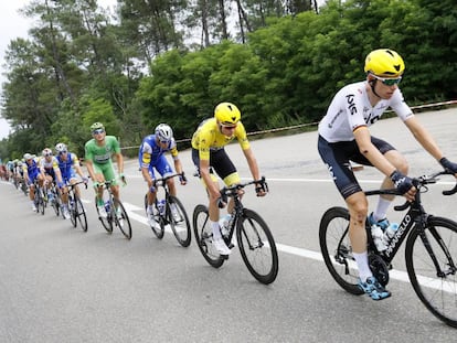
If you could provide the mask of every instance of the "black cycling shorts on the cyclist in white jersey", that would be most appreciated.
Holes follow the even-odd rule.
[[[371,142],[382,154],[390,150],[395,150],[390,143],[375,137],[371,137]],[[351,161],[363,165],[373,164],[360,152],[355,140],[330,143],[323,137],[319,136],[318,150],[322,161],[327,164],[338,191],[344,199],[357,192],[362,192],[352,171]]]

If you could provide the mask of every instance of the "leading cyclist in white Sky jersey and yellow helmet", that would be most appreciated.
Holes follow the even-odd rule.
[[[382,187],[395,186],[408,201],[414,200],[416,189],[406,175],[406,159],[386,141],[372,137],[368,128],[387,108],[392,108],[422,147],[457,176],[457,164],[444,157],[403,99],[398,83],[404,69],[403,58],[396,52],[387,49],[372,51],[365,58],[366,79],[341,88],[319,124],[319,153],[350,214],[349,237],[359,267],[359,287],[373,300],[385,299],[391,292],[378,282],[369,267],[365,232],[368,200],[350,161],[375,167],[385,175]],[[383,231],[389,227],[386,213],[393,197],[380,196],[378,206],[368,217],[370,225],[378,225]]]

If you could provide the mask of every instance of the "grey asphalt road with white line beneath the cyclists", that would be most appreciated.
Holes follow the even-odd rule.
[[[457,109],[418,117],[457,161]],[[412,175],[438,170],[400,119],[382,120],[371,131],[406,156]],[[270,193],[257,199],[247,190],[244,204],[265,218],[278,245],[279,274],[269,286],[249,275],[238,250],[214,269],[193,237],[189,248],[170,233],[157,239],[146,225],[146,185],[135,161],[126,163],[128,185],[121,189],[132,219],[130,242],[104,231],[91,189],[83,191],[83,233],[51,208],[44,216],[32,213],[23,194],[0,182],[0,342],[455,342],[455,329],[425,309],[407,279],[393,278],[393,297],[375,302],[344,292],[330,277],[318,226],[328,207],[343,203],[316,146],[316,132],[252,141]],[[248,179],[240,148],[227,151]],[[190,151],[180,157],[191,175]],[[365,189],[381,180],[374,169],[358,175]],[[451,183],[432,187],[424,203],[431,213],[457,219],[457,197],[439,193]],[[195,178],[178,190],[190,216],[205,202]],[[391,221],[398,217],[392,211]],[[394,268],[404,270],[403,260],[400,251]]]

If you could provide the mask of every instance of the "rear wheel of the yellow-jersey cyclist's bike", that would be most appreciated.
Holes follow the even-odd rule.
[[[213,246],[213,233],[210,226],[210,216],[205,205],[196,205],[192,215],[193,233],[200,253],[204,259],[214,268],[220,268],[224,264],[224,257],[217,253]]]

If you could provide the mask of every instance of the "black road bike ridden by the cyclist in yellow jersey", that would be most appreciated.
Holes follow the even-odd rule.
[[[236,242],[247,269],[259,282],[268,285],[275,281],[278,274],[278,253],[275,239],[265,221],[256,212],[243,206],[241,200],[241,195],[244,194],[243,189],[251,184],[263,184],[268,191],[265,178],[221,190],[223,200],[233,197],[235,203],[228,229],[221,231],[221,234],[225,244],[233,248],[232,237],[236,232]],[[224,202],[226,203],[226,201]],[[205,205],[199,204],[193,211],[193,232],[196,245],[205,260],[214,268],[220,268],[228,256],[220,255],[212,243],[213,233]]]

